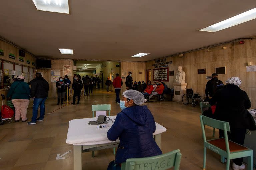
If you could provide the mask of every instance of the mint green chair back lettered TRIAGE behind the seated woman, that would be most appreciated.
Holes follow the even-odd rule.
[[[180,169],[181,153],[180,150],[174,150],[162,155],[131,158],[121,164],[122,170],[165,170],[174,167],[174,170]]]

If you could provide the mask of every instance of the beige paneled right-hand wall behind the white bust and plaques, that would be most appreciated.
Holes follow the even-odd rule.
[[[225,46],[226,49],[222,47]],[[205,94],[205,86],[208,80],[206,76],[211,76],[215,72],[215,67],[225,67],[226,75],[219,75],[218,79],[225,81],[229,77],[239,77],[242,80],[240,88],[245,90],[251,100],[252,108],[256,107],[256,72],[246,72],[246,63],[252,62],[256,65],[256,41],[245,40],[245,44],[238,42],[226,44],[206,49],[186,53],[185,57],[167,57],[166,61],[173,61],[169,64],[169,71],[174,70],[174,76],[169,76],[169,82],[165,82],[168,87],[173,88],[173,82],[177,73],[177,67],[181,65],[186,72],[185,82],[187,88],[193,88],[202,96]],[[154,61],[146,62],[146,69],[154,69]],[[198,69],[206,69],[206,74],[198,75]],[[153,77],[153,72],[152,72]],[[152,78],[153,79],[153,78]]]

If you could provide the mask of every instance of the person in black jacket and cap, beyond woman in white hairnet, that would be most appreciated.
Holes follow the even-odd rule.
[[[221,89],[221,87],[223,86],[224,84],[222,83],[222,81],[218,80],[218,74],[213,73],[212,79],[209,80],[206,84],[205,95],[212,97],[216,93],[216,91]]]

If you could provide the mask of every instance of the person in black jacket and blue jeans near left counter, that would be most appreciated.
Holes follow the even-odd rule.
[[[36,73],[36,78],[34,81],[31,81],[31,92],[30,97],[34,98],[33,102],[33,116],[31,121],[28,122],[28,125],[36,124],[36,121],[43,121],[45,114],[45,105],[44,102],[48,97],[49,84],[42,77],[41,73]],[[40,106],[40,116],[37,118],[38,107]]]

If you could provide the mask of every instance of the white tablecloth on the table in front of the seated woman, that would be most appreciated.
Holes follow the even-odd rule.
[[[114,121],[116,116],[108,116]],[[107,118],[108,119],[108,118]],[[108,121],[109,127],[97,128],[98,125],[88,125],[89,121],[96,121],[97,118],[73,119],[69,121],[69,128],[66,143],[73,145],[96,145],[114,143],[107,138],[107,131],[113,123]],[[153,135],[160,134],[166,131],[166,128],[156,123],[156,131]],[[117,139],[115,142],[119,142]]]

